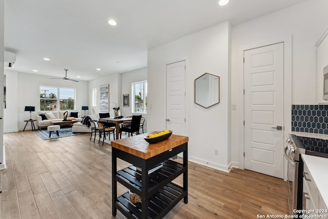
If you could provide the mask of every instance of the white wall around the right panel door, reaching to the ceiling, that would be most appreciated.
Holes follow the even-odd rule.
[[[238,139],[241,129],[238,127],[242,124],[239,118],[243,114],[240,104],[243,99],[243,83],[240,82],[243,49],[292,38],[292,83],[287,84],[292,86],[292,97],[287,95],[285,98],[292,104],[317,104],[315,44],[328,25],[327,8],[328,1],[311,0],[232,27],[232,103],[239,103],[237,110],[232,111],[233,162],[238,163],[241,147]],[[291,111],[285,113],[291,114]],[[285,122],[290,123],[290,120]]]

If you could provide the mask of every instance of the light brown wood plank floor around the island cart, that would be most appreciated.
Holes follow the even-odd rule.
[[[43,141],[34,132],[4,134],[7,169],[1,218],[114,218],[111,147],[89,134]],[[118,169],[128,166],[118,160]],[[287,214],[286,182],[260,173],[230,173],[189,162],[189,202],[165,218],[256,218]],[[181,184],[182,178],[175,182]],[[127,191],[121,185],[118,194]],[[125,218],[119,211],[116,218]]]

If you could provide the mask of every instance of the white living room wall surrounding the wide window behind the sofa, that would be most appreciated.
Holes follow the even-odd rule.
[[[17,74],[17,77],[15,76]],[[35,119],[38,111],[40,110],[39,105],[39,87],[40,86],[54,86],[54,87],[67,87],[75,88],[76,92],[76,108],[75,110],[83,113],[81,111],[81,106],[88,104],[88,82],[80,81],[78,83],[64,80],[52,80],[49,76],[42,76],[36,74],[28,74],[15,71],[6,71],[6,75],[10,81],[7,80],[7,95],[10,95],[12,99],[7,98],[7,106],[10,106],[9,109],[12,109],[11,112],[6,112],[9,118],[17,118],[17,129],[23,130],[25,126],[24,120],[30,118],[30,112],[25,112],[25,106],[35,106],[35,112],[32,112],[32,118]],[[17,80],[17,81],[15,81]],[[14,87],[11,87],[14,86]],[[17,89],[14,88],[17,86]],[[10,93],[9,91],[15,92]],[[11,103],[13,102],[13,103]],[[16,103],[14,103],[16,102]],[[16,107],[16,109],[14,109]],[[10,115],[9,115],[10,113]],[[16,116],[15,116],[15,113]],[[5,131],[15,131],[12,130],[14,125],[11,125],[11,121],[5,120]],[[36,126],[36,123],[35,123]],[[30,125],[26,129],[31,129]]]

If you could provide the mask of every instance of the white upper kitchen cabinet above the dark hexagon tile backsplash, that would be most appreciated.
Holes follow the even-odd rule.
[[[328,27],[322,33],[317,46],[317,102],[318,103],[328,103],[324,101],[323,96],[323,67],[328,65]]]

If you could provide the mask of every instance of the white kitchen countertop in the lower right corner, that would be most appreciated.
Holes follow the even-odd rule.
[[[328,206],[328,187],[326,184],[328,182],[328,158],[302,154],[302,159],[309,168],[325,205]]]

